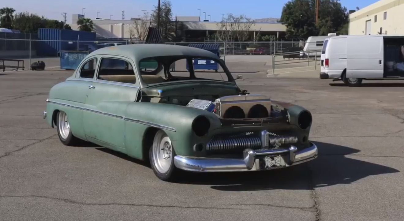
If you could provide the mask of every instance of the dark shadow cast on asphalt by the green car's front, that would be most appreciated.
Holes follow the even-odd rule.
[[[187,173],[178,183],[210,185],[221,191],[257,191],[269,189],[313,189],[349,184],[368,176],[400,172],[387,166],[346,158],[357,149],[315,142],[319,156],[305,164],[289,168],[241,173]]]

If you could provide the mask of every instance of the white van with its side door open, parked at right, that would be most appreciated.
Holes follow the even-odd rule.
[[[340,78],[349,86],[360,86],[362,80],[403,80],[404,36],[345,36],[335,43],[337,38],[330,38],[324,47],[320,78]],[[338,47],[341,49],[333,49]],[[345,48],[345,55],[342,48]],[[337,63],[335,67],[332,66],[334,62]]]

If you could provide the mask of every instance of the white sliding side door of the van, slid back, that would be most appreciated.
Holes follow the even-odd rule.
[[[347,78],[383,78],[383,37],[347,38]]]

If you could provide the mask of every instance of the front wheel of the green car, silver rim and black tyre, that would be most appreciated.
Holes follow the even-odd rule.
[[[172,181],[178,169],[174,165],[175,151],[170,138],[163,130],[158,130],[149,150],[149,160],[154,174],[161,180]]]

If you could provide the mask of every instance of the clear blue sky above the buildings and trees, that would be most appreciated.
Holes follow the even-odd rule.
[[[378,0],[340,0],[347,9],[364,8]],[[109,19],[122,19],[122,10],[125,11],[125,19],[143,15],[142,10],[151,11],[158,0],[4,0],[3,6],[15,8],[17,12],[28,11],[38,15],[44,15],[49,19],[62,20],[61,13],[67,13],[67,23],[71,23],[72,14],[81,14],[82,8],[86,8],[86,17],[95,18],[97,11],[99,17]],[[246,15],[253,19],[276,17],[282,13],[282,7],[288,0],[171,0],[173,4],[173,15],[178,16],[199,16],[198,8],[201,8],[201,19],[204,19],[203,12],[211,15],[212,21],[220,21],[222,14],[233,13],[235,15]],[[4,4],[5,3],[5,4]]]

